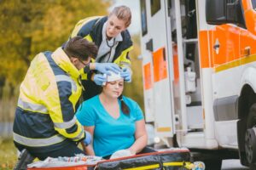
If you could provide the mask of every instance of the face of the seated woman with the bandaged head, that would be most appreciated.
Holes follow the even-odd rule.
[[[107,82],[106,86],[103,86],[103,93],[111,98],[118,98],[124,90],[124,79],[116,80],[113,82]]]

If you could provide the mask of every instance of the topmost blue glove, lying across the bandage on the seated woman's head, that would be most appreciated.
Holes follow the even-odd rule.
[[[119,65],[114,63],[96,63],[95,67],[97,71],[100,71],[103,74],[108,74],[109,76],[110,73],[108,71],[113,71],[114,73],[119,73],[121,71]]]

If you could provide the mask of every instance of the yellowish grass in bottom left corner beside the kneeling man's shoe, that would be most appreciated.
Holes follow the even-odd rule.
[[[16,161],[17,150],[13,139],[1,139],[0,137],[0,169],[13,169]]]

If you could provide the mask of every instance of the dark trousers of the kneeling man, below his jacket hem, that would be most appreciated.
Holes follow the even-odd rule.
[[[18,150],[26,149],[28,152],[34,156],[38,157],[39,160],[45,160],[49,157],[58,157],[58,156],[75,156],[76,154],[84,154],[83,150],[80,150],[75,142],[69,142],[61,147],[56,148],[55,150],[33,150],[30,147],[25,147],[21,144],[15,143]]]

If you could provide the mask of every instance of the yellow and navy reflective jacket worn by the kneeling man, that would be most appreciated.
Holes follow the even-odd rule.
[[[38,54],[20,85],[14,141],[26,147],[55,150],[84,139],[74,115],[82,88],[79,71],[62,48]]]

